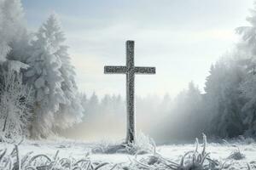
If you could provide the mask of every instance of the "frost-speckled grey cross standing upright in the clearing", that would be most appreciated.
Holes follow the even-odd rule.
[[[105,66],[105,74],[126,75],[126,111],[127,129],[126,143],[133,143],[135,140],[135,109],[134,109],[134,78],[135,74],[155,74],[155,67],[134,66],[134,41],[126,41],[126,65]]]

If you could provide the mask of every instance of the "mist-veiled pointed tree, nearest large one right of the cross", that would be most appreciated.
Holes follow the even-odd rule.
[[[169,97],[166,96],[165,99],[167,101],[165,103],[171,103]],[[164,111],[162,122],[155,125],[158,129],[154,130],[155,138],[161,142],[174,142],[195,139],[196,136],[204,133],[206,115],[202,110],[202,101],[200,89],[194,82],[189,82],[188,88],[172,100],[172,106],[168,107],[168,114]]]

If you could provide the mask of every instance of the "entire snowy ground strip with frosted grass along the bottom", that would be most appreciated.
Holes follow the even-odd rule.
[[[207,144],[207,138],[204,136],[201,142],[196,139],[195,144],[155,147],[154,144],[150,145],[148,137],[144,137],[146,138],[143,139],[144,144],[134,144],[134,148],[131,148],[134,152],[130,154],[127,152],[111,154],[95,152],[93,150],[104,144],[88,144],[72,140],[24,141],[16,145],[0,143],[0,169],[256,169],[256,144],[254,142],[250,144],[244,144],[241,141],[236,144]],[[139,150],[143,147],[145,149],[145,144],[149,144],[154,149],[140,155]],[[104,146],[106,145],[111,144],[105,143]],[[138,147],[140,145],[141,147]],[[236,155],[237,152],[244,156],[243,159],[230,159],[230,156]]]

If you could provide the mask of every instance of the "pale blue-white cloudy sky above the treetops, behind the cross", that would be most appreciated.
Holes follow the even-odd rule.
[[[135,65],[155,66],[137,76],[136,94],[176,95],[193,80],[204,87],[210,65],[247,26],[253,0],[21,0],[31,30],[59,15],[79,90],[125,95],[125,75],[104,75],[104,65],[125,65],[125,41],[135,41]]]

